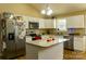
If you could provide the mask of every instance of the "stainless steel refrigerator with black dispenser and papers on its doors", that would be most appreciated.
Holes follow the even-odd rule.
[[[24,30],[20,29],[12,13],[4,12],[0,16],[0,59],[15,59],[26,53],[25,36],[20,37]]]

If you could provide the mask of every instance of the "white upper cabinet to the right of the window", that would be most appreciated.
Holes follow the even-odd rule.
[[[84,28],[84,15],[66,17],[67,28]]]

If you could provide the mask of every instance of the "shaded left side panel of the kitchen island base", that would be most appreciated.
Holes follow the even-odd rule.
[[[39,47],[26,43],[26,60],[38,60]]]

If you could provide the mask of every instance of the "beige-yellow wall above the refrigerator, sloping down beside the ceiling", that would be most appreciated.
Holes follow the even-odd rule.
[[[2,12],[12,12],[20,15],[41,17],[30,4],[25,3],[0,3],[0,13]]]

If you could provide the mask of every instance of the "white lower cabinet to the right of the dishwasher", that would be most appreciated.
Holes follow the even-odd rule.
[[[74,50],[85,51],[85,37],[84,36],[74,37]]]

